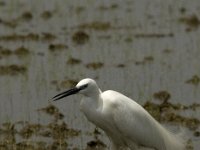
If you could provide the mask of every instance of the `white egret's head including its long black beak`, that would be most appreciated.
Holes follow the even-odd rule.
[[[92,96],[92,95],[97,95],[100,92],[101,91],[99,90],[96,82],[92,79],[87,78],[87,79],[81,80],[74,88],[64,91],[54,96],[53,100],[56,101],[66,96],[77,94],[77,93],[83,94],[85,96]]]

